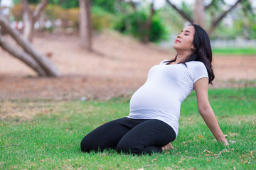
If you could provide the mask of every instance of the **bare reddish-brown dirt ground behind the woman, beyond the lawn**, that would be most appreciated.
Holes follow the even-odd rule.
[[[33,44],[50,56],[63,76],[38,78],[0,49],[0,100],[130,96],[142,86],[151,66],[175,55],[110,32],[94,36],[95,52],[82,50],[78,35],[41,33]],[[211,88],[256,86],[256,56],[215,56],[214,68],[216,79]]]

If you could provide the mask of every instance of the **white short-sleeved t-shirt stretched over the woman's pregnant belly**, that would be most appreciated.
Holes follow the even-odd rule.
[[[193,91],[193,84],[208,72],[203,62],[166,64],[151,67],[145,84],[133,94],[127,118],[162,120],[178,135],[181,103]]]

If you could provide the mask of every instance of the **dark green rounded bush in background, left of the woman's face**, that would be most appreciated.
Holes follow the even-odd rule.
[[[143,40],[146,34],[144,30],[148,17],[145,11],[129,13],[128,15],[122,16],[114,28],[120,33],[133,35],[135,38]],[[152,18],[151,29],[149,30],[149,41],[159,42],[160,40],[166,39],[167,35],[168,33],[163,21],[161,21],[161,17],[155,12]]]

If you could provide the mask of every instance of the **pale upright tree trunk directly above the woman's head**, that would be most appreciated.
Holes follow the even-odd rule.
[[[203,29],[206,28],[206,11],[203,5],[203,0],[196,0],[193,8],[194,22],[201,26]]]

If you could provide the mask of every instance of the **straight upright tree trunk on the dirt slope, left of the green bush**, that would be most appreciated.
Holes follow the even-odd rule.
[[[90,18],[90,0],[80,0],[80,36],[81,44],[92,51],[92,23]]]

